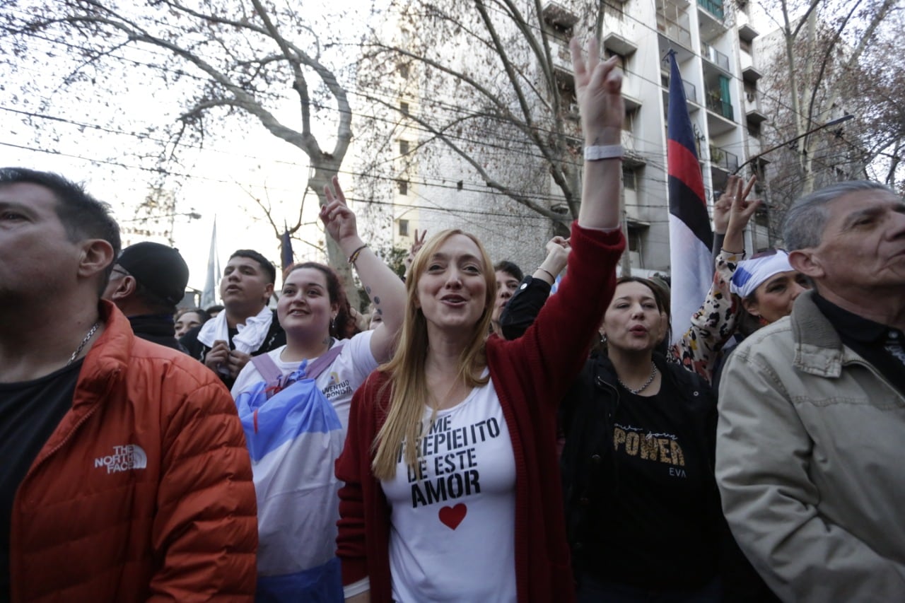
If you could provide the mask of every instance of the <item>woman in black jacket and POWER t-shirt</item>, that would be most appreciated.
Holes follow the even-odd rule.
[[[720,598],[716,400],[702,378],[654,353],[665,308],[653,282],[620,279],[605,349],[563,402],[579,601]]]

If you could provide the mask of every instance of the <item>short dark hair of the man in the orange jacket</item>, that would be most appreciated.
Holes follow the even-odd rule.
[[[119,225],[110,215],[110,206],[90,196],[71,180],[28,168],[0,168],[0,187],[14,184],[33,184],[49,189],[56,198],[56,214],[60,218],[71,243],[85,239],[103,239],[113,247],[113,257],[119,256]],[[107,276],[113,263],[107,269]]]

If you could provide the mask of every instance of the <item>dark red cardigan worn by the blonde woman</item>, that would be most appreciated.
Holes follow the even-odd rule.
[[[509,426],[516,464],[516,585],[519,601],[570,601],[572,570],[563,520],[556,452],[559,401],[576,378],[613,297],[620,231],[572,225],[568,273],[537,321],[518,340],[491,336],[487,364]],[[370,473],[371,444],[386,420],[389,376],[375,371],[352,398],[348,435],[336,473],[337,554],[343,583],[370,578],[372,603],[390,603],[390,508]]]

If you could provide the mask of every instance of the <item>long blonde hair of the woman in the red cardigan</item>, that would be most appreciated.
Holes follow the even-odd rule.
[[[471,388],[484,385],[488,381],[486,377],[481,378],[481,373],[487,364],[484,340],[490,329],[491,310],[496,297],[497,285],[493,264],[477,237],[458,229],[444,230],[433,235],[414,258],[412,270],[405,282],[408,300],[405,306],[405,321],[399,334],[399,343],[393,358],[378,369],[389,374],[387,385],[392,388],[386,422],[380,428],[372,444],[372,449],[376,452],[371,470],[379,480],[391,480],[395,477],[401,446],[405,446],[405,464],[412,468],[419,478],[421,477],[418,466],[418,441],[421,436],[424,407],[430,403],[431,395],[427,390],[424,369],[428,346],[427,320],[424,318],[424,312],[416,304],[418,281],[426,272],[430,262],[433,261],[433,256],[453,235],[467,236],[478,246],[481,263],[483,263],[481,269],[487,285],[484,312],[472,329],[471,342],[462,349],[462,355],[459,357],[459,378],[462,378]],[[380,392],[381,396],[382,394],[383,391]],[[431,406],[433,407],[433,405]],[[432,423],[436,410],[436,407],[433,407]]]

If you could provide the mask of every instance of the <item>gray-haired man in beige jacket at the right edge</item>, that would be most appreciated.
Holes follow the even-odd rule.
[[[905,204],[840,183],[799,199],[783,235],[814,291],[723,373],[723,509],[784,600],[905,600]]]

